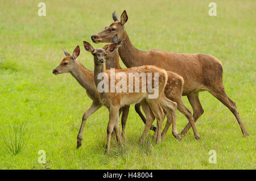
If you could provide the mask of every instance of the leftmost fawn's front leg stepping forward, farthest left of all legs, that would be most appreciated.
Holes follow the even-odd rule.
[[[97,104],[97,103],[93,102],[92,105],[90,106],[90,108],[87,111],[84,112],[84,115],[82,116],[81,127],[79,129],[79,134],[77,135],[77,146],[76,146],[76,148],[79,148],[82,145],[82,132],[84,131],[84,125],[85,125],[86,120],[88,119],[88,117],[90,115],[92,115],[100,107],[101,107],[100,104]]]

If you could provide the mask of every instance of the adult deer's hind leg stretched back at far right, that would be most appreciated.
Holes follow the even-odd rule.
[[[241,117],[237,111],[236,103],[231,100],[228,95],[226,95],[224,86],[221,86],[220,89],[209,90],[210,94],[212,94],[215,98],[220,100],[222,104],[229,108],[229,110],[234,114],[237,119],[238,124],[240,125],[243,136],[249,136],[249,133],[246,131],[245,126],[242,123]]]

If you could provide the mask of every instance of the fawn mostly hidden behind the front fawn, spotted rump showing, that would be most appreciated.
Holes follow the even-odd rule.
[[[122,41],[118,42],[118,36],[115,35],[113,37],[112,43],[118,43],[118,47],[120,47],[122,45]],[[108,47],[109,44],[105,45],[106,48]],[[115,50],[113,53],[109,53],[106,56],[106,68],[120,68],[119,65],[119,54],[118,51]],[[167,71],[167,75],[168,75],[168,81],[166,84],[166,88],[164,89],[164,95],[166,95],[166,97],[174,102],[177,103],[177,107],[179,107],[180,112],[182,112],[189,120],[189,123],[191,123],[193,126],[193,131],[195,133],[195,138],[198,140],[200,139],[199,133],[196,131],[196,126],[195,126],[195,122],[193,120],[193,116],[192,116],[192,112],[185,107],[182,99],[181,99],[181,95],[182,95],[182,90],[183,90],[183,78],[180,75],[177,75],[176,73],[172,72],[172,71]],[[138,104],[136,104],[138,105]],[[144,105],[146,106],[146,105]],[[148,108],[143,108],[143,110],[148,110]],[[139,113],[139,116],[141,116],[144,124],[146,124],[146,119],[144,118],[143,114],[141,113],[141,110],[138,109],[136,110]],[[165,112],[165,110],[163,110]],[[128,114],[128,112],[127,112]],[[122,115],[123,116],[123,115]],[[154,114],[151,112],[151,116],[152,119],[155,119]],[[127,118],[127,116],[125,116]],[[122,119],[122,137],[125,136],[125,125],[126,125],[126,119]],[[166,135],[166,132],[168,131],[168,128],[171,125],[171,121],[167,120],[166,126],[164,127],[164,130],[162,132],[162,139],[164,138],[164,136]],[[155,131],[155,127],[152,125],[152,127],[150,128],[151,130]],[[154,137],[156,136],[156,134],[154,135]]]

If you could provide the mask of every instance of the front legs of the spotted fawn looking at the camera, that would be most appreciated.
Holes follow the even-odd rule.
[[[111,140],[111,134],[113,132],[114,127],[116,126],[116,121],[119,117],[118,114],[119,107],[118,106],[110,106],[109,108],[109,123],[107,128],[107,142],[106,142],[106,149],[105,154],[108,153],[110,148],[110,140]],[[115,128],[117,140],[121,140],[121,137],[119,136],[119,129]]]

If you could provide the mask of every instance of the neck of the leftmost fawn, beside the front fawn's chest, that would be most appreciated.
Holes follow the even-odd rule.
[[[71,74],[86,91],[96,91],[93,83],[93,71],[86,69],[79,61],[76,61],[75,68],[71,71]]]

